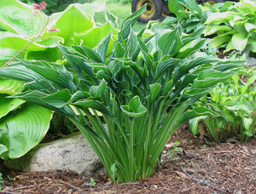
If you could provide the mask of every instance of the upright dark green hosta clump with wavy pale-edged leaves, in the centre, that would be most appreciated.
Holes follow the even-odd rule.
[[[141,180],[154,173],[164,145],[185,120],[212,114],[185,111],[238,62],[196,54],[206,43],[180,27],[162,35],[135,33],[145,7],[125,20],[106,58],[110,35],[96,48],[58,47],[67,66],[20,60],[0,71],[25,80],[20,98],[67,116],[84,134],[113,181]],[[108,128],[108,129],[106,129]]]

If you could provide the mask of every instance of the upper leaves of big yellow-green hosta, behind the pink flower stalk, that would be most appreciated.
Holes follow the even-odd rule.
[[[93,15],[104,9],[104,3],[100,8],[98,3],[76,3],[63,12],[48,16],[19,0],[1,0],[0,25],[5,31],[0,31],[0,66],[22,48],[25,49],[18,59],[61,60],[55,41],[66,46],[83,44],[95,48],[110,31],[115,33],[110,19],[103,25],[96,24]]]

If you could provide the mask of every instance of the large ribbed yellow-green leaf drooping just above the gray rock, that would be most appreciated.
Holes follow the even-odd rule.
[[[53,112],[40,106],[26,105],[5,117],[0,128],[6,131],[9,158],[21,157],[44,138]],[[3,138],[3,137],[2,137]]]

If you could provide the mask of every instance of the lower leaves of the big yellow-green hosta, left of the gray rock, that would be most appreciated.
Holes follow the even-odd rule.
[[[24,100],[7,99],[19,94],[24,82],[14,79],[0,80],[0,157],[21,157],[44,138],[53,112],[30,105]]]

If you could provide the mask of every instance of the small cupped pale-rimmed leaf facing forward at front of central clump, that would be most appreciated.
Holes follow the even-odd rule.
[[[138,96],[133,97],[128,106],[120,106],[120,108],[130,117],[140,117],[147,112]]]

